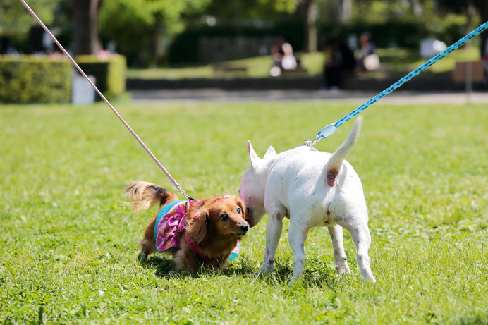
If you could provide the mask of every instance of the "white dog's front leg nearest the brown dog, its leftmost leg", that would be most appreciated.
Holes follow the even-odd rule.
[[[284,214],[276,211],[269,215],[266,226],[266,252],[264,252],[264,262],[260,269],[260,274],[272,273],[274,270],[274,254],[278,247],[281,229],[283,228]]]

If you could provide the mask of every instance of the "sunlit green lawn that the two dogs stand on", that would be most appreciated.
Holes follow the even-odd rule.
[[[259,154],[299,145],[355,104],[119,104],[126,121],[195,197],[236,193]],[[370,211],[377,283],[337,276],[327,229],[305,244],[287,288],[288,222],[270,278],[255,278],[266,218],[214,275],[137,260],[150,216],[123,204],[130,180],[169,180],[104,105],[0,106],[0,323],[488,324],[485,104],[377,104],[348,157]],[[333,151],[352,123],[317,144]]]

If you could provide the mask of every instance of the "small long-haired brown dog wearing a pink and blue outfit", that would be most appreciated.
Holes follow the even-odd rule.
[[[234,195],[189,201],[186,207],[188,202],[152,183],[136,181],[124,192],[136,211],[161,206],[139,242],[142,259],[152,252],[170,252],[177,269],[195,272],[199,264],[206,264],[218,271],[226,267],[238,238],[249,229],[244,203]]]

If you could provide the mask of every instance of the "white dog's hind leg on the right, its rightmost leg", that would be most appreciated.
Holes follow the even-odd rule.
[[[370,256],[367,254],[367,251],[370,249],[371,245],[370,229],[367,227],[367,223],[361,223],[357,226],[353,226],[348,229],[348,231],[353,237],[354,243],[356,244],[356,248],[358,250],[358,255],[356,258],[361,270],[362,279],[372,283],[376,282],[371,272]]]

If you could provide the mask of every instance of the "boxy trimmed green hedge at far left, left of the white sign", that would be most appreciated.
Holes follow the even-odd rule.
[[[0,56],[0,102],[70,102],[71,68],[63,58]]]

